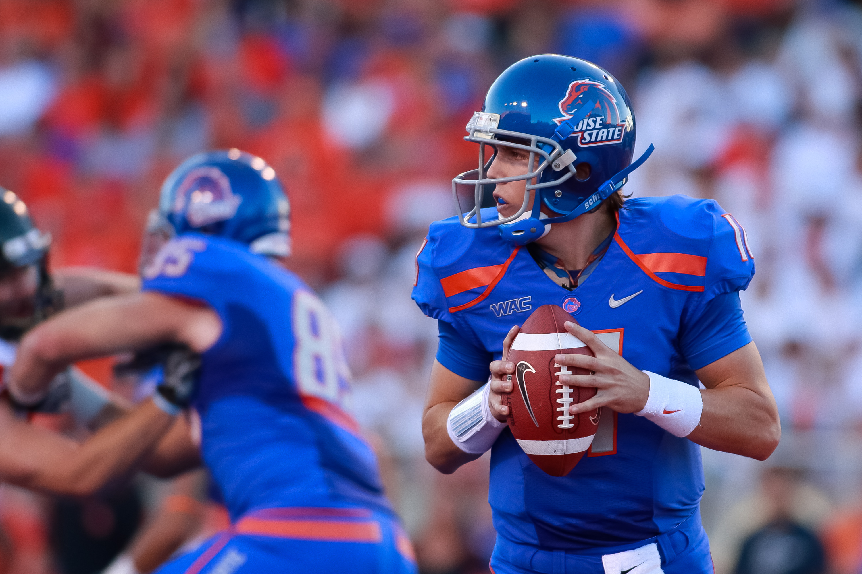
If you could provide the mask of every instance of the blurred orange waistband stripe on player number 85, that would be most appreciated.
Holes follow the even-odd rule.
[[[335,522],[326,520],[263,520],[243,518],[234,527],[236,534],[279,536],[299,540],[327,540],[329,542],[379,542],[383,540],[380,523]]]

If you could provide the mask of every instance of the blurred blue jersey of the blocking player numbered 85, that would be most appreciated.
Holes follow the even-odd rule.
[[[159,252],[143,288],[201,301],[222,320],[193,406],[232,518],[281,507],[389,512],[375,456],[347,414],[336,324],[296,275],[243,244],[190,234]]]

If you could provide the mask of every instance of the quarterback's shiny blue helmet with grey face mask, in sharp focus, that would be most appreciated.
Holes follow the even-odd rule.
[[[507,241],[524,245],[543,237],[551,225],[571,221],[598,207],[625,185],[628,174],[653,152],[653,145],[632,164],[634,113],[626,90],[608,71],[584,59],[542,54],[510,65],[488,90],[481,112],[467,124],[466,141],[479,144],[479,168],[453,179],[453,197],[461,225],[497,225]],[[494,154],[485,161],[485,145]],[[486,177],[497,146],[529,152],[528,173]],[[539,165],[535,168],[535,160]],[[590,165],[578,180],[576,166]],[[484,194],[497,183],[526,180],[524,201],[506,218],[482,220]],[[535,180],[535,182],[534,182]],[[476,207],[464,213],[459,186],[469,186]],[[536,201],[530,209],[530,191]],[[558,215],[541,213],[547,207]]]

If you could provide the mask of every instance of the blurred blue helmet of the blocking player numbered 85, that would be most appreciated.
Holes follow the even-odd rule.
[[[198,231],[249,245],[255,253],[290,255],[290,204],[275,170],[245,151],[205,151],[167,176],[159,212],[173,233]]]

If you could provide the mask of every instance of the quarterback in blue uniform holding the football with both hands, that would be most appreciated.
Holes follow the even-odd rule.
[[[712,572],[697,445],[763,460],[780,435],[740,308],[754,273],[745,231],[715,201],[623,203],[619,189],[652,147],[631,163],[628,96],[590,62],[523,59],[483,110],[467,126],[482,167],[453,180],[478,207],[432,225],[417,260],[413,297],[440,324],[427,458],[453,472],[493,446],[497,574]],[[480,210],[495,184],[497,209]],[[596,355],[557,355],[561,384],[598,390],[559,410],[602,409],[589,451],[562,478],[525,451],[586,445],[515,441],[507,429],[505,397],[519,376],[505,361],[512,325],[545,304],[572,313],[583,326],[566,328]]]

